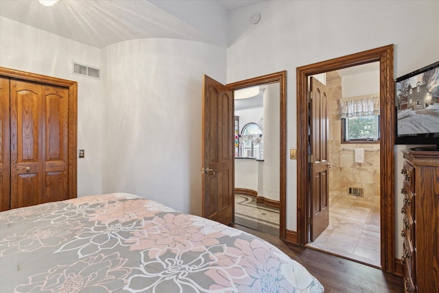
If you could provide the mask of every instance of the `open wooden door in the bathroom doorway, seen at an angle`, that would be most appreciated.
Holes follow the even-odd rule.
[[[329,119],[324,84],[311,77],[310,88],[310,234],[314,241],[329,225]]]

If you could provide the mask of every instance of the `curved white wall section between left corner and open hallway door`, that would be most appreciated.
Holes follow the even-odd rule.
[[[225,82],[226,49],[130,40],[103,49],[103,191],[201,213],[204,73]]]

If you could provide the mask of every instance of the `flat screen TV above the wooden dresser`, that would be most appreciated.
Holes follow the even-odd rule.
[[[395,143],[439,148],[439,61],[396,78]]]

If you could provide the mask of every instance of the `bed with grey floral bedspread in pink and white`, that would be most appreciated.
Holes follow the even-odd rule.
[[[281,250],[132,194],[0,213],[0,292],[323,292]]]

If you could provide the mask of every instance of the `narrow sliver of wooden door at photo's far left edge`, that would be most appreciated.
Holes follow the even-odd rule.
[[[3,78],[0,76],[0,211],[10,209],[9,103],[9,78]]]

